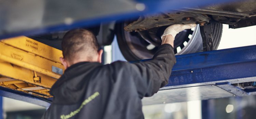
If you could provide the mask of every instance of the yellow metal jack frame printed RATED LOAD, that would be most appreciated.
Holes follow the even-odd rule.
[[[62,51],[20,36],[0,41],[0,86],[51,98],[49,90],[63,74]]]

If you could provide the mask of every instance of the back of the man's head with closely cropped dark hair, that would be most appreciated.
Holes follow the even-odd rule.
[[[81,53],[90,60],[99,49],[96,36],[86,29],[68,31],[63,36],[61,47],[63,57],[70,63],[74,58],[80,58]]]

